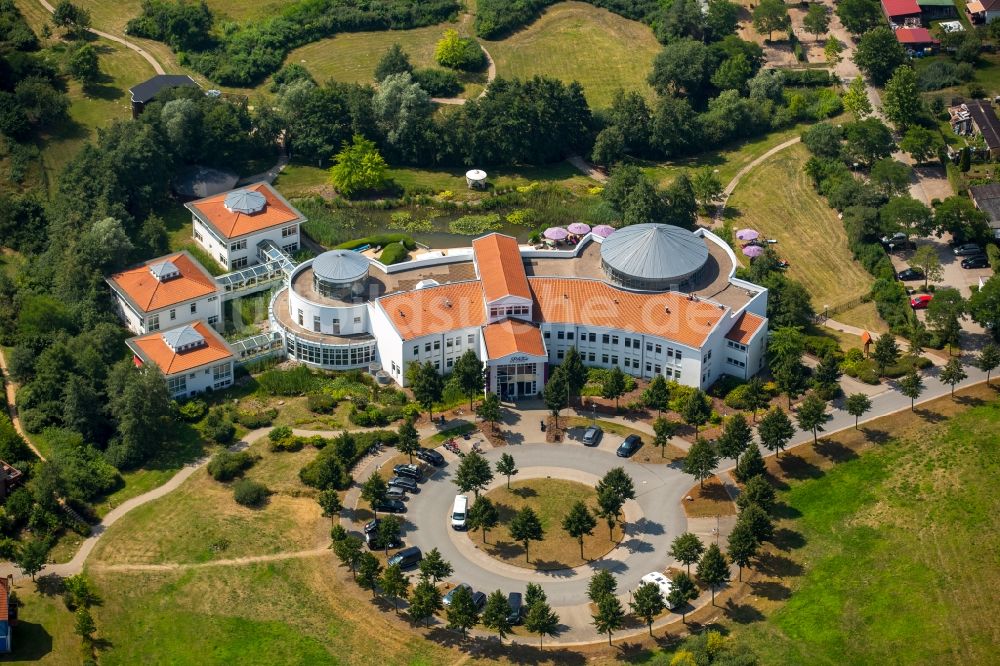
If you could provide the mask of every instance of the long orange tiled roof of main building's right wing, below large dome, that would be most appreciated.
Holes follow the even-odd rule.
[[[530,278],[535,319],[603,326],[656,335],[700,347],[722,320],[718,304],[684,294],[636,293],[601,282],[573,278]],[[668,311],[669,310],[669,311]]]

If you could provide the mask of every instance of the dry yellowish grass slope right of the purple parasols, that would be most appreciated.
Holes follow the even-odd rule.
[[[868,293],[872,277],[851,257],[844,227],[812,188],[803,171],[805,146],[773,156],[744,178],[729,199],[734,228],[751,227],[775,238],[780,257],[790,262],[790,277],[801,281],[813,307]]]

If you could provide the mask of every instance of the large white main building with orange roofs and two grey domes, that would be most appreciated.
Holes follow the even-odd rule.
[[[447,374],[466,350],[504,398],[536,395],[576,347],[587,365],[707,388],[763,367],[767,291],[734,277],[717,236],[664,224],[588,235],[570,250],[489,234],[471,248],[392,266],[335,250],[306,261],[271,301],[288,356],[326,369],[410,363]]]

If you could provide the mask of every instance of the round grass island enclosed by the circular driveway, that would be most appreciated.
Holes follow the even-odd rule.
[[[514,477],[516,479],[517,477]],[[490,530],[483,543],[482,530],[469,532],[469,538],[478,548],[491,556],[519,567],[541,569],[567,569],[577,567],[606,555],[618,545],[621,538],[621,528],[614,530],[614,540],[609,538],[608,526],[598,521],[593,536],[584,537],[583,553],[580,557],[580,544],[563,531],[563,518],[569,513],[570,507],[581,501],[592,510],[597,507],[597,492],[582,483],[562,479],[530,479],[527,481],[512,480],[510,489],[500,486],[486,493],[500,511],[500,526]],[[514,514],[522,508],[530,506],[538,514],[545,538],[533,541],[528,546],[530,562],[524,557],[524,548],[510,537],[507,525]]]

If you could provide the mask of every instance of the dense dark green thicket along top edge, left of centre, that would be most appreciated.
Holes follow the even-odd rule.
[[[164,41],[181,64],[224,85],[254,85],[281,67],[289,51],[339,32],[402,30],[452,18],[455,0],[298,0],[258,21],[214,29],[204,2],[146,0],[127,31]]]

